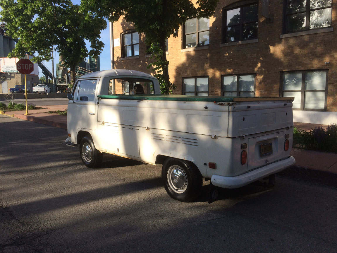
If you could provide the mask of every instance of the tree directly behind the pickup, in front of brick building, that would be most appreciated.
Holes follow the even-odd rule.
[[[197,0],[196,7],[191,0],[82,0],[83,12],[92,11],[98,17],[117,21],[122,15],[132,22],[136,30],[144,33],[146,43],[151,45],[154,63],[162,93],[168,93],[172,84],[168,75],[165,40],[178,30],[187,18],[213,16],[218,0]],[[92,13],[89,13],[92,15]],[[162,74],[161,74],[162,73]]]

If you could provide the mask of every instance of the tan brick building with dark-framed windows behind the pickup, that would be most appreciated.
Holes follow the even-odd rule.
[[[168,38],[173,93],[294,96],[294,121],[336,123],[335,1],[220,0],[213,17]],[[113,33],[115,68],[151,73],[145,35],[122,18]]]

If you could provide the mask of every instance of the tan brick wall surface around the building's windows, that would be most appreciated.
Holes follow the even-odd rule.
[[[210,45],[208,49],[182,52],[182,29],[178,37],[168,39],[167,60],[170,61],[170,81],[176,84],[175,94],[182,94],[182,78],[209,76],[209,95],[220,95],[221,75],[256,74],[256,96],[279,96],[283,71],[328,69],[327,111],[337,111],[337,35],[336,31],[280,38],[283,27],[283,1],[270,2],[269,13],[273,22],[261,16],[259,1],[258,42],[233,46],[221,45],[222,8],[236,0],[220,0],[210,18]],[[332,3],[332,26],[337,22],[337,0]],[[134,27],[122,18],[114,23],[114,38]],[[121,47],[115,46],[116,68],[147,69],[146,45],[140,35],[140,55],[135,59],[122,59]],[[325,64],[330,62],[330,64]]]

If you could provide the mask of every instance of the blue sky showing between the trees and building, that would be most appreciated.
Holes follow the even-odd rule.
[[[81,4],[80,0],[73,0],[74,4]],[[109,32],[109,22],[106,22],[107,28],[101,31],[100,40],[104,43],[104,48],[102,53],[99,56],[100,60],[100,70],[111,69],[111,60],[110,60],[110,32]],[[87,43],[88,51],[90,51],[90,44]],[[58,52],[54,52],[54,75],[56,75],[56,64],[59,63],[59,54]],[[52,72],[52,61],[43,62],[43,64]],[[41,77],[42,70],[39,68],[39,76]]]

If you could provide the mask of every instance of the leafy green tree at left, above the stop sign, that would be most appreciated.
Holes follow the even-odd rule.
[[[7,35],[18,39],[9,57],[37,53],[33,61],[48,61],[52,47],[56,47],[70,68],[71,84],[75,66],[88,56],[85,39],[91,42],[90,55],[97,56],[104,46],[99,34],[106,28],[106,21],[84,15],[70,0],[0,0],[0,6],[0,21],[6,23]]]

